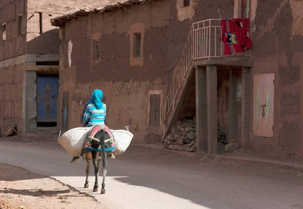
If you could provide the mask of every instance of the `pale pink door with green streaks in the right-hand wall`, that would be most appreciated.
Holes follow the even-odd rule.
[[[253,135],[273,137],[274,74],[254,75]]]

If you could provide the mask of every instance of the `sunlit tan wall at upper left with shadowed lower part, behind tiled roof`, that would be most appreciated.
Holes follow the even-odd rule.
[[[70,13],[76,8],[93,7],[98,4],[92,0],[28,0],[27,4],[27,54],[59,54],[59,29],[51,25],[51,19]],[[40,17],[42,13],[42,34]]]

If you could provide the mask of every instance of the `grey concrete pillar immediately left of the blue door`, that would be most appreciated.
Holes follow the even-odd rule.
[[[37,75],[36,71],[25,71],[23,78],[23,127],[22,135],[37,131]]]

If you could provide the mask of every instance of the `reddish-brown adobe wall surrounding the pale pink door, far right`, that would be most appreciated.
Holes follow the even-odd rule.
[[[252,89],[254,74],[274,73],[275,106],[274,137],[256,137],[250,133],[250,145],[253,150],[261,153],[302,156],[303,2],[254,1],[254,6],[256,7],[253,8],[256,11],[252,16],[252,20],[255,20],[252,25],[254,67],[250,69],[250,88]],[[251,101],[252,96],[253,93]],[[253,106],[251,102],[251,108]]]

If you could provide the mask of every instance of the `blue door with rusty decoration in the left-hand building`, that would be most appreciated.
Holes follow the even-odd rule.
[[[37,78],[37,122],[57,122],[58,78]]]

